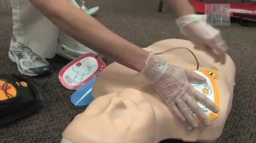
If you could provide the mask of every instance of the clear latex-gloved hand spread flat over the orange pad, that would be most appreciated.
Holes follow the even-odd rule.
[[[205,105],[212,112],[218,112],[218,107],[207,96],[195,90],[190,83],[205,83],[206,79],[195,72],[177,66],[171,66],[154,54],[148,55],[143,75],[153,84],[155,91],[173,112],[175,117],[187,121],[193,128],[198,126],[195,115],[205,125],[210,124],[207,115],[198,106],[196,100]]]

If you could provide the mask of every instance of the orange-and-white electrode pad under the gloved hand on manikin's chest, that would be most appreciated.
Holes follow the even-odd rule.
[[[212,100],[218,108],[220,107],[220,95],[218,91],[218,84],[216,82],[216,79],[218,78],[218,73],[216,70],[196,70],[194,71],[201,77],[204,77],[207,79],[206,83],[202,84],[193,84],[192,86],[201,94],[204,94],[207,96],[208,99]],[[201,107],[203,112],[207,114],[207,117],[209,117],[210,120],[214,120],[218,117],[218,113],[214,113],[211,110],[209,110],[206,106],[203,106],[200,102],[198,102],[198,105]]]

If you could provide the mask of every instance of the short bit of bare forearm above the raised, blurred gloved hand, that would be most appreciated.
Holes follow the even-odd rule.
[[[177,12],[177,16],[183,16],[187,14],[195,14],[194,8],[189,3],[189,0],[168,0],[172,8]]]

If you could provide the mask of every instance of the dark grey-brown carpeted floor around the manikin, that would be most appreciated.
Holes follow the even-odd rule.
[[[184,38],[177,30],[175,14],[164,5],[158,13],[158,1],[108,0],[88,1],[90,6],[99,5],[95,17],[112,31],[132,43],[146,47],[166,38]],[[18,74],[16,65],[8,58],[9,39],[12,34],[9,14],[0,15],[0,74]],[[218,143],[253,143],[256,141],[256,28],[238,24],[221,26],[219,29],[230,45],[228,53],[236,63],[236,88],[230,117]],[[0,128],[0,142],[60,142],[61,133],[79,112],[71,104],[68,91],[58,81],[58,70],[65,65],[60,57],[51,60],[56,71],[50,77],[34,77],[44,84],[38,87],[44,95],[44,108],[31,117]],[[229,72],[229,71],[227,71]],[[166,140],[163,143],[181,142]]]

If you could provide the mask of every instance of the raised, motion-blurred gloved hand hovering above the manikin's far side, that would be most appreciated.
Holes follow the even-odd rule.
[[[204,15],[189,14],[176,20],[179,30],[192,42],[211,48],[214,54],[224,54],[228,46],[220,32],[207,24]]]

